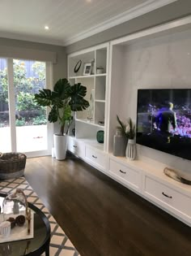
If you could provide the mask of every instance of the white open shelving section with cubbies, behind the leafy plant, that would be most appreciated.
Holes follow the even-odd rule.
[[[79,72],[74,72],[76,63],[81,60],[82,64]],[[85,63],[95,61],[93,70],[89,75],[83,75]],[[102,67],[103,72],[97,73],[97,68]],[[77,53],[68,55],[68,79],[71,84],[81,83],[87,87],[86,99],[91,101],[93,96],[92,118],[88,119],[88,111],[78,111],[75,114],[75,138],[86,142],[88,145],[99,150],[106,150],[106,125],[107,125],[107,101],[108,101],[108,43],[95,46],[87,50],[81,50]],[[99,130],[104,131],[104,143],[96,141],[96,133]],[[71,135],[71,133],[70,133]]]

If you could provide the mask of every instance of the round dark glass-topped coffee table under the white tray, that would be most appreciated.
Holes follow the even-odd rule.
[[[0,193],[0,205],[6,197]],[[0,243],[0,255],[2,256],[39,256],[45,252],[49,256],[50,224],[46,215],[32,203],[28,207],[34,211],[34,237],[27,240]]]

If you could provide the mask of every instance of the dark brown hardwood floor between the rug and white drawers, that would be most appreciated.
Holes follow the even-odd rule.
[[[82,256],[190,256],[191,228],[74,156],[25,176]]]

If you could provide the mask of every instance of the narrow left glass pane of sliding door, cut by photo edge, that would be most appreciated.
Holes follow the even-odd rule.
[[[11,152],[6,59],[0,59],[0,152]]]

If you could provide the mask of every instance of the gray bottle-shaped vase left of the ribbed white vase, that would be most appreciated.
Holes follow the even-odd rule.
[[[127,137],[122,133],[121,128],[116,129],[116,134],[113,137],[113,155],[125,156],[127,146]]]

